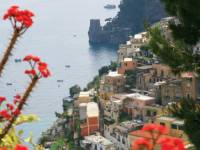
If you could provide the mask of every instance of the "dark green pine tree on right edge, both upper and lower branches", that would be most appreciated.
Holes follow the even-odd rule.
[[[171,38],[167,39],[162,28],[149,28],[150,47],[174,73],[192,71],[200,75],[200,55],[193,52],[193,46],[200,42],[200,1],[162,0],[169,15],[175,20],[169,22]],[[171,112],[185,120],[184,132],[190,141],[200,149],[200,105],[197,101],[183,99],[173,104]]]

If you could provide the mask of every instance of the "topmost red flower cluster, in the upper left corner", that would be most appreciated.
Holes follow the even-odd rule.
[[[3,19],[13,19],[15,25],[20,23],[20,27],[29,28],[33,24],[32,17],[34,17],[34,14],[31,11],[19,10],[19,6],[12,6],[4,14]]]

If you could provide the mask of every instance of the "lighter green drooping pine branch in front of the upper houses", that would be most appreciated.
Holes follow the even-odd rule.
[[[151,40],[149,45],[153,53],[159,56],[162,61],[169,65],[174,73],[183,71],[200,72],[200,56],[193,54],[192,50],[187,47],[182,41],[175,41],[173,44],[169,43],[161,34],[159,28],[149,30]]]

